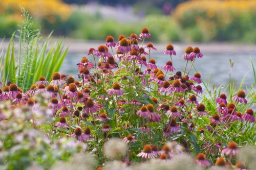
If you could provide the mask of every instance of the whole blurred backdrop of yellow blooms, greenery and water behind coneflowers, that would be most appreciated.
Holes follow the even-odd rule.
[[[176,70],[184,68],[181,55],[186,45],[199,45],[205,57],[196,66],[213,83],[228,81],[229,59],[235,63],[233,81],[241,82],[248,71],[245,84],[253,83],[250,57],[256,61],[256,1],[1,0],[0,38],[10,37],[22,22],[19,5],[30,12],[33,27],[42,35],[54,30],[54,37],[68,38],[70,53],[63,71],[70,74],[77,72],[73,64],[88,48],[97,47],[106,36],[117,39],[147,27],[152,34],[148,41],[159,49],[153,53],[156,59],[163,57],[166,43],[175,44]],[[162,65],[165,60],[158,62]]]

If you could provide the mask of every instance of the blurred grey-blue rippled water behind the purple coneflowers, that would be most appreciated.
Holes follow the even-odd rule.
[[[76,64],[80,62],[81,58],[87,54],[70,53],[67,55],[61,67],[62,74],[72,75],[77,77],[78,70]],[[174,66],[177,70],[184,70],[185,60],[181,57],[182,52],[177,52],[176,56],[173,56]],[[210,85],[216,86],[227,85],[229,82],[229,59],[234,62],[231,72],[231,79],[238,87],[245,77],[244,86],[251,86],[254,82],[253,69],[251,66],[251,60],[256,67],[256,54],[255,53],[204,53],[203,58],[197,58],[194,62],[196,69],[201,73],[202,79],[208,81]],[[156,60],[158,67],[162,67],[166,61],[169,61],[169,56],[165,56],[159,52],[152,52],[151,58]],[[93,62],[93,58],[88,57]],[[190,67],[190,62],[188,64]],[[194,74],[195,70],[192,67],[191,73]],[[192,75],[190,74],[190,76]],[[255,88],[255,87],[254,87]]]

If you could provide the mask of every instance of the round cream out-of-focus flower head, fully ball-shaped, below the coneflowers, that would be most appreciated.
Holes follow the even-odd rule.
[[[108,140],[103,148],[103,153],[106,158],[116,159],[123,157],[127,152],[127,144],[120,138],[112,138]]]

